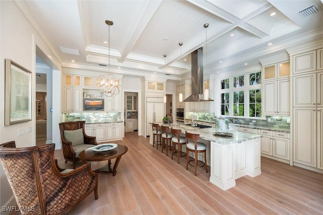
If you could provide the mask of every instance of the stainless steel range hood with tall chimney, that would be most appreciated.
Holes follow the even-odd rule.
[[[213,101],[208,95],[203,94],[203,47],[191,53],[192,59],[192,95],[184,101]]]

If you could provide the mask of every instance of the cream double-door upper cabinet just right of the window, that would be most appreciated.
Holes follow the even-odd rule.
[[[290,79],[263,82],[263,115],[290,115]]]

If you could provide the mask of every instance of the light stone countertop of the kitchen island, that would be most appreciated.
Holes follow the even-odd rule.
[[[194,128],[192,126],[187,126],[179,123],[167,123],[167,124],[163,124],[162,122],[156,122],[156,123],[159,124],[160,126],[164,125],[164,126],[170,126],[176,129],[181,129],[183,134],[185,134],[186,131],[191,133],[196,133],[200,135],[201,139],[224,144],[224,145],[239,143],[242,141],[261,137],[260,134],[250,134],[250,133],[240,132],[240,131],[232,131],[230,132],[233,134],[232,136],[221,137],[221,136],[213,135],[213,133],[216,132],[215,128]]]

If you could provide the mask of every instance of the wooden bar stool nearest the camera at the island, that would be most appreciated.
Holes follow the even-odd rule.
[[[189,161],[189,152],[191,151],[194,153],[194,174],[195,174],[195,176],[196,176],[196,168],[203,167],[204,165],[205,165],[205,170],[207,173],[206,145],[204,143],[197,142],[197,140],[200,139],[200,135],[186,132],[185,139],[186,139],[186,170],[188,169],[188,164],[191,161],[193,161],[193,160]],[[191,141],[191,140],[193,140],[193,141]],[[204,152],[204,163],[201,161],[203,163],[203,165],[197,166],[197,153],[201,153],[201,152]],[[193,165],[191,165],[191,166],[193,166]]]

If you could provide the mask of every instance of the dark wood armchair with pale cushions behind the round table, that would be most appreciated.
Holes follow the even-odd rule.
[[[79,153],[87,148],[97,145],[96,138],[85,134],[85,121],[60,123],[61,140],[65,163],[75,164],[79,160]]]

